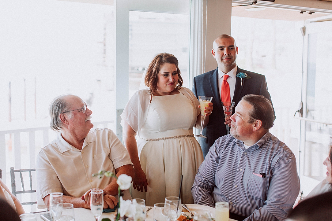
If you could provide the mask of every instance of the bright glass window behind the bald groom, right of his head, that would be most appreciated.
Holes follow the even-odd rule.
[[[293,115],[301,101],[303,21],[232,17],[231,34],[239,47],[241,69],[265,75],[276,111],[270,132],[298,157],[299,120]]]

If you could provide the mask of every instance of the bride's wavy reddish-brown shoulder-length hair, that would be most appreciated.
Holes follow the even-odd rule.
[[[176,69],[178,71],[178,76],[179,76],[179,80],[178,80],[178,83],[175,88],[177,90],[181,89],[183,80],[180,75],[180,73],[181,73],[180,69],[178,67],[178,65],[179,65],[178,59],[172,54],[160,53],[156,57],[154,57],[153,60],[151,61],[151,63],[149,64],[149,67],[147,68],[145,78],[144,78],[145,85],[147,87],[149,87],[151,91],[157,90],[158,73],[159,73],[161,67],[165,63],[175,64]]]

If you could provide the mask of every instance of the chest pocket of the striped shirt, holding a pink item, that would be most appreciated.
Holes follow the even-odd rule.
[[[255,174],[251,174],[248,181],[249,195],[255,199],[262,201],[266,200],[266,186],[267,178],[259,177]]]

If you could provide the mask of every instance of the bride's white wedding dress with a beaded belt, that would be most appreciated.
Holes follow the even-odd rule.
[[[146,193],[132,188],[131,196],[145,199],[147,206],[164,202],[167,196],[178,196],[182,174],[182,203],[194,203],[191,187],[204,158],[195,137],[183,136],[193,135],[193,126],[200,114],[199,101],[188,88],[179,92],[152,96],[149,104],[142,101],[144,98],[150,101],[150,90],[140,90],[130,99],[122,114],[122,119],[139,136],[138,156],[148,182]],[[180,137],[170,138],[174,136]],[[146,140],[157,138],[169,139]]]

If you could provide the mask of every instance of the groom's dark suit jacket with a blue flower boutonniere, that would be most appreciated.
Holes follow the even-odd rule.
[[[236,74],[240,72],[246,73],[251,78],[243,78],[241,86],[241,78],[236,77],[234,96],[232,100],[235,102],[235,106],[246,94],[260,94],[271,100],[264,75],[242,70],[237,67]],[[205,157],[214,141],[217,138],[226,135],[226,125],[224,124],[225,116],[222,109],[221,98],[218,89],[218,70],[215,69],[205,74],[196,76],[194,78],[192,91],[197,98],[198,96],[213,97],[213,112],[209,116],[209,123],[203,129],[203,135],[207,136],[207,138],[200,138],[200,144],[203,150],[203,155]],[[235,108],[233,109],[233,113],[234,110]]]

